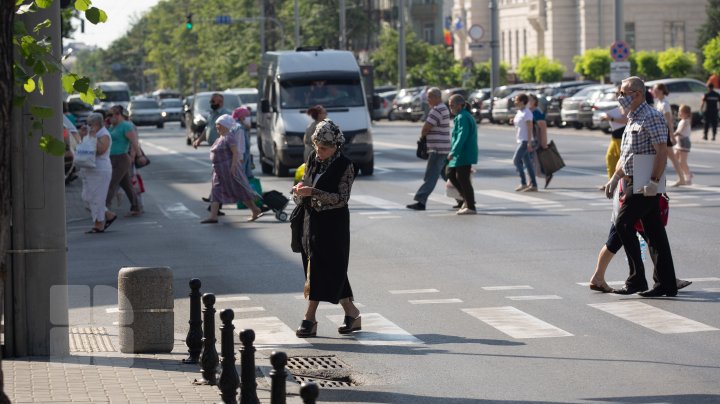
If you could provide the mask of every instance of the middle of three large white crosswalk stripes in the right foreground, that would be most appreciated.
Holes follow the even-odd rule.
[[[463,309],[465,313],[513,338],[572,337],[565,330],[512,306]]]

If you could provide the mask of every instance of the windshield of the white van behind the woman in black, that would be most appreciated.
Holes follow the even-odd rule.
[[[280,82],[280,102],[283,108],[362,107],[365,105],[360,78],[313,80],[288,79]]]

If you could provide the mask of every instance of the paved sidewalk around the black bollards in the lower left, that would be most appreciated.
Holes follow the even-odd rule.
[[[66,187],[67,223],[87,222],[89,212],[81,200],[82,183]],[[124,195],[123,195],[124,196]],[[127,201],[122,208],[128,208]],[[78,310],[78,309],[73,309]],[[82,310],[93,310],[92,307]],[[85,316],[79,315],[76,318]],[[91,316],[87,316],[90,318]],[[200,365],[182,364],[187,357],[185,335],[175,323],[172,353],[135,355],[119,352],[118,330],[108,324],[72,324],[70,355],[61,357],[3,358],[5,393],[13,403],[216,403],[217,386],[194,385]],[[64,332],[64,330],[63,330]],[[216,331],[220,352],[220,334]],[[240,374],[239,339],[235,338],[236,369]],[[269,352],[256,353],[257,395],[270,402]],[[219,380],[219,379],[218,379]],[[302,403],[299,386],[288,379],[287,402]]]

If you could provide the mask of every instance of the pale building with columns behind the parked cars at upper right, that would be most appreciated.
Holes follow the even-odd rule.
[[[497,0],[500,60],[514,71],[523,56],[545,55],[575,76],[572,59],[587,49],[609,48],[615,36],[614,0]],[[705,22],[706,0],[624,0],[623,39],[636,51],[680,47],[697,51],[697,31]],[[490,1],[454,0],[453,19],[479,25],[473,43],[467,29],[453,32],[455,57],[490,58]]]

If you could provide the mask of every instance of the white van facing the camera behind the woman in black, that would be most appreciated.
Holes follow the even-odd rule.
[[[263,173],[289,175],[303,161],[307,109],[322,105],[345,135],[343,152],[373,173],[372,130],[360,68],[351,52],[298,48],[267,52],[259,71],[258,149]]]

